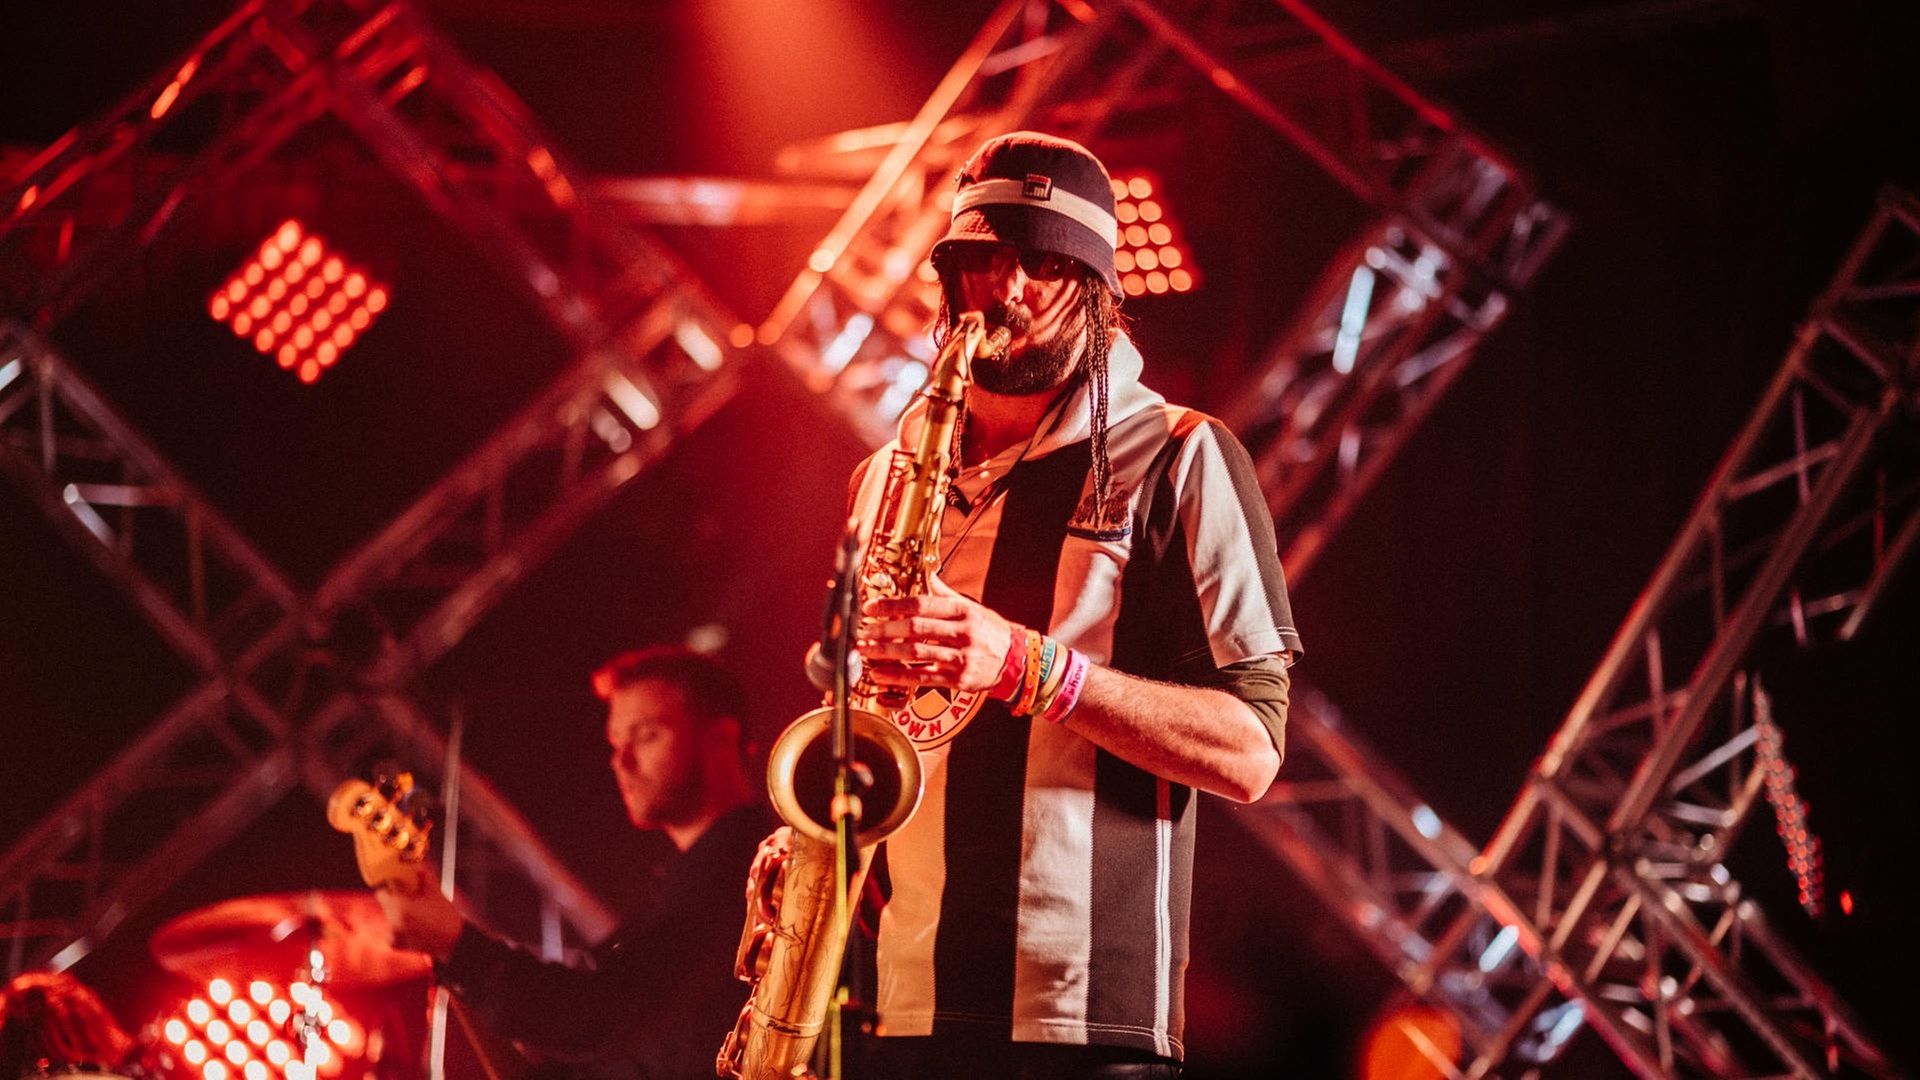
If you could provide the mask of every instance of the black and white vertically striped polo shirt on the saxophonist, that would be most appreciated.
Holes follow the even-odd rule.
[[[1081,386],[1033,442],[956,479],[941,578],[1146,678],[1198,682],[1221,665],[1298,655],[1246,452],[1219,421],[1142,386],[1140,367],[1117,336],[1108,452],[1112,502],[1127,513],[1091,521]],[[922,415],[910,409],[900,430]],[[858,475],[862,521],[889,454]],[[1194,790],[985,696],[922,690],[895,721],[922,749],[925,796],[876,863],[881,1032],[977,1026],[1183,1057]]]

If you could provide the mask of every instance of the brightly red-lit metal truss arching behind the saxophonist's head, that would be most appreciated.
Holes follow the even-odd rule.
[[[1300,54],[1315,58],[1315,79],[1279,61]],[[1225,417],[1256,457],[1283,561],[1300,577],[1567,219],[1298,2],[1002,4],[912,121],[839,140],[845,154],[883,156],[760,340],[885,440],[924,377],[937,286],[922,258],[962,158],[1023,125],[1091,142],[1116,115],[1196,92],[1227,94],[1379,215],[1329,263]]]

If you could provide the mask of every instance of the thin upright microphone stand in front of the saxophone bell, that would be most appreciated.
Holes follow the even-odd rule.
[[[847,534],[841,538],[839,557],[835,563],[841,567],[839,577],[833,580],[833,590],[828,596],[828,611],[824,634],[820,638],[820,648],[833,663],[833,686],[829,690],[829,721],[828,721],[828,748],[833,753],[833,924],[849,926],[847,940],[852,942],[851,930],[851,899],[847,896],[847,884],[852,878],[852,859],[856,853],[856,836],[860,830],[860,794],[872,786],[874,776],[866,771],[854,757],[852,740],[852,711],[851,711],[851,690],[858,682],[852,673],[852,665],[858,663],[858,655],[852,650],[854,628],[858,626],[858,580],[860,580],[860,528],[856,521],[847,523]],[[845,957],[841,961],[845,965]],[[828,1003],[828,1076],[826,1080],[839,1080],[841,1076],[841,1007],[847,1003],[847,984],[845,978],[835,992],[833,999]]]

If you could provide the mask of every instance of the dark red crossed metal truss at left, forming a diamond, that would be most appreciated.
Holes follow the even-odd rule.
[[[177,142],[196,110],[219,119],[198,152],[142,154]],[[179,69],[42,154],[0,198],[8,306],[58,321],[324,113],[501,261],[576,363],[307,598],[44,340],[4,327],[0,463],[205,676],[0,857],[15,970],[73,963],[288,790],[324,798],[374,744],[442,761],[444,738],[405,694],[413,676],[737,384],[733,321],[693,275],[582,208],[511,94],[399,4],[246,4]],[[484,778],[463,786],[470,836],[501,855],[463,859],[468,876],[516,876],[547,915],[605,934],[609,909],[524,819]],[[123,861],[156,836],[154,855]]]

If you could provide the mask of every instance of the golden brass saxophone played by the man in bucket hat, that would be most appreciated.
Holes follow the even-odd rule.
[[[927,415],[914,450],[899,448],[887,465],[887,486],[868,534],[858,571],[858,600],[918,596],[939,559],[941,509],[952,465],[954,429],[973,359],[1006,348],[1008,331],[987,332],[979,311],[960,315],[933,361]],[[766,763],[766,788],[781,821],[793,826],[780,911],[762,924],[749,905],[735,974],[749,982],[747,1007],[728,1032],[714,1063],[718,1076],[793,1080],[812,1076],[808,1061],[826,1026],[828,1005],[847,949],[847,915],[860,896],[874,847],[906,824],[920,805],[920,751],[895,726],[891,713],[906,703],[860,678],[849,690],[852,751],[862,774],[856,857],[847,861],[841,892],[835,872],[835,821],[829,811],[833,755],[829,707],[787,724]],[[852,853],[851,853],[852,855]]]

